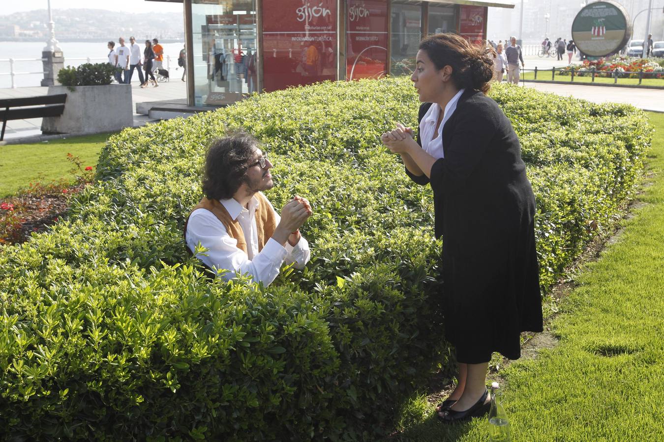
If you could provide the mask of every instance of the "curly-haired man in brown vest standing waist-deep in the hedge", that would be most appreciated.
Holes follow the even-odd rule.
[[[299,227],[313,213],[311,205],[295,196],[278,215],[262,193],[274,186],[271,168],[258,141],[244,133],[213,140],[208,148],[205,197],[185,223],[185,241],[226,280],[246,274],[268,286],[283,264],[304,268],[309,261],[309,244]],[[197,252],[199,245],[207,251]]]

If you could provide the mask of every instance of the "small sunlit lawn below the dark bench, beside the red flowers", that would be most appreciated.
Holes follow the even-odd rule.
[[[74,164],[67,154],[78,156],[82,167],[97,164],[99,152],[109,134],[62,138],[34,144],[0,146],[0,198],[12,195],[31,182],[50,182],[74,177]]]

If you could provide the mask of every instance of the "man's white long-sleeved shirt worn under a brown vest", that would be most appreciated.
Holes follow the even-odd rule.
[[[210,268],[230,270],[219,274],[225,280],[231,280],[236,274],[248,274],[252,282],[262,282],[268,286],[278,276],[282,264],[293,262],[295,268],[304,268],[309,262],[309,243],[304,237],[299,239],[295,247],[288,242],[286,247],[270,238],[263,249],[258,252],[258,231],[256,228],[256,207],[258,199],[254,196],[249,201],[249,208],[242,207],[235,199],[220,199],[220,203],[228,211],[228,215],[240,223],[244,239],[247,243],[247,252],[238,249],[237,240],[228,235],[226,227],[206,209],[196,209],[189,217],[187,224],[187,246],[194,250],[198,243],[205,247],[207,256],[198,254],[205,265]],[[268,201],[269,203],[269,201]],[[272,203],[270,209],[274,211]],[[280,216],[276,211],[276,221]]]

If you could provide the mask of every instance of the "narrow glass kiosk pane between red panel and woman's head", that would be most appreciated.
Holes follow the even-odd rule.
[[[422,39],[422,6],[392,3],[391,74],[410,75]]]

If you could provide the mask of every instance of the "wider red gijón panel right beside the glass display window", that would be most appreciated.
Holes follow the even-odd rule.
[[[335,0],[263,0],[262,11],[266,91],[336,80]]]

